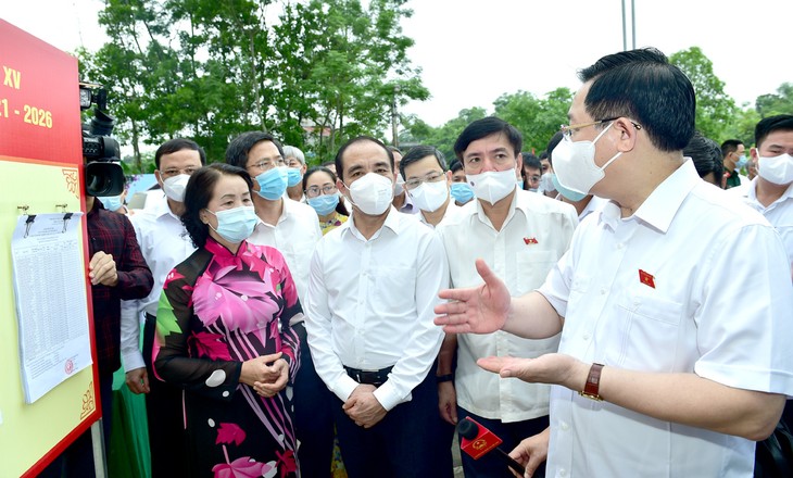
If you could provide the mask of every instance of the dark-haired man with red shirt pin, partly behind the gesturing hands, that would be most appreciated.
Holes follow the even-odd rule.
[[[572,206],[525,191],[516,186],[523,167],[520,133],[494,116],[469,124],[454,143],[477,200],[466,204],[437,229],[450,263],[452,286],[471,287],[481,280],[474,267],[477,257],[490,264],[515,295],[540,287],[562,257],[578,224]],[[511,450],[524,438],[547,427],[549,391],[545,385],[500,380],[479,368],[476,361],[489,355],[533,358],[556,352],[558,336],[544,340],[521,339],[506,332],[456,336],[457,370],[454,387],[441,383],[442,397],[456,391],[457,414],[484,425]],[[448,360],[455,336],[444,340]],[[439,375],[452,373],[441,361]],[[444,391],[443,388],[446,390]],[[441,403],[445,418],[455,422],[453,404]],[[466,477],[509,477],[511,470],[495,455],[478,460],[463,454]],[[539,476],[542,476],[541,474]]]

